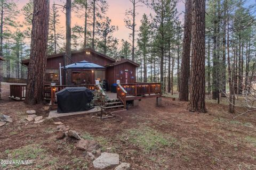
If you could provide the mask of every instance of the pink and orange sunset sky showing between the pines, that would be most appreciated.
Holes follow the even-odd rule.
[[[185,0],[183,1],[185,2]],[[18,0],[19,9],[21,9],[22,6],[24,6],[28,2],[29,0]],[[63,4],[65,3],[65,0],[50,0],[51,4],[53,2],[55,2],[56,4]],[[131,33],[131,30],[127,29],[124,25],[125,10],[129,10],[129,8],[132,7],[131,2],[129,2],[128,0],[107,0],[107,2],[109,4],[109,8],[106,15],[111,19],[111,24],[118,26],[118,31],[114,32],[114,36],[117,37],[119,40],[125,39],[130,41],[131,43],[131,39],[129,39],[129,33]],[[184,2],[180,0],[177,5],[178,12],[182,14],[185,11]],[[142,7],[138,7],[137,12],[139,13],[136,18],[137,29],[139,29],[140,27],[140,20],[142,19],[142,15],[144,13],[146,13],[147,15],[152,13],[154,15],[154,11],[152,11],[150,8],[147,8],[145,5],[143,5]],[[61,26],[65,28],[65,15],[62,12],[60,12],[60,15]],[[23,19],[23,15],[20,15],[18,18],[19,21],[22,21]],[[180,15],[180,20],[183,20],[183,15]],[[83,20],[77,18],[75,13],[73,12],[71,14],[71,27],[73,27],[75,24],[83,25]]]

